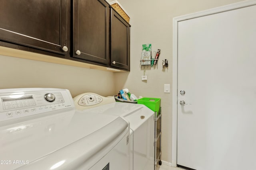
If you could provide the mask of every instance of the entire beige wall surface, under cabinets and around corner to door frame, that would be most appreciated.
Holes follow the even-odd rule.
[[[131,18],[130,72],[112,73],[0,55],[0,88],[67,88],[73,97],[83,92],[108,96],[129,88],[136,96],[161,98],[162,160],[171,162],[172,94],[163,91],[164,84],[172,85],[172,18],[239,1],[119,0]],[[158,68],[146,68],[146,82],[141,80],[144,69],[139,62],[144,43],[151,43],[152,51],[161,49]],[[169,67],[162,69],[164,59],[168,59]]]

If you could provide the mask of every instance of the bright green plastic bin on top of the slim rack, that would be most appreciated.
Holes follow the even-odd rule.
[[[138,104],[144,104],[151,110],[156,111],[157,115],[160,109],[160,102],[161,102],[160,98],[140,98],[137,100]]]

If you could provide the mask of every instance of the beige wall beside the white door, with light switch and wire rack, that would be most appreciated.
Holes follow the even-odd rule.
[[[110,0],[111,1],[111,0]],[[172,94],[163,93],[164,84],[172,85],[172,18],[208,10],[241,0],[118,0],[130,15],[131,71],[115,73],[115,90],[128,88],[137,96],[161,98],[162,160],[171,162],[172,151]],[[161,49],[157,68],[146,69],[147,82],[141,80],[142,44],[151,43],[152,51]],[[162,69],[168,59],[169,68]],[[172,89],[171,89],[172,92]]]

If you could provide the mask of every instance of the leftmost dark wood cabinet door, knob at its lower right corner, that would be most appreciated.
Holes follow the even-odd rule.
[[[0,40],[66,54],[66,0],[0,0]]]

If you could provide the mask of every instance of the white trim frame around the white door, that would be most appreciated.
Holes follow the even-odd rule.
[[[173,18],[172,52],[172,166],[177,166],[177,124],[178,124],[178,22],[208,16],[230,10],[256,5],[256,0],[246,0]]]

